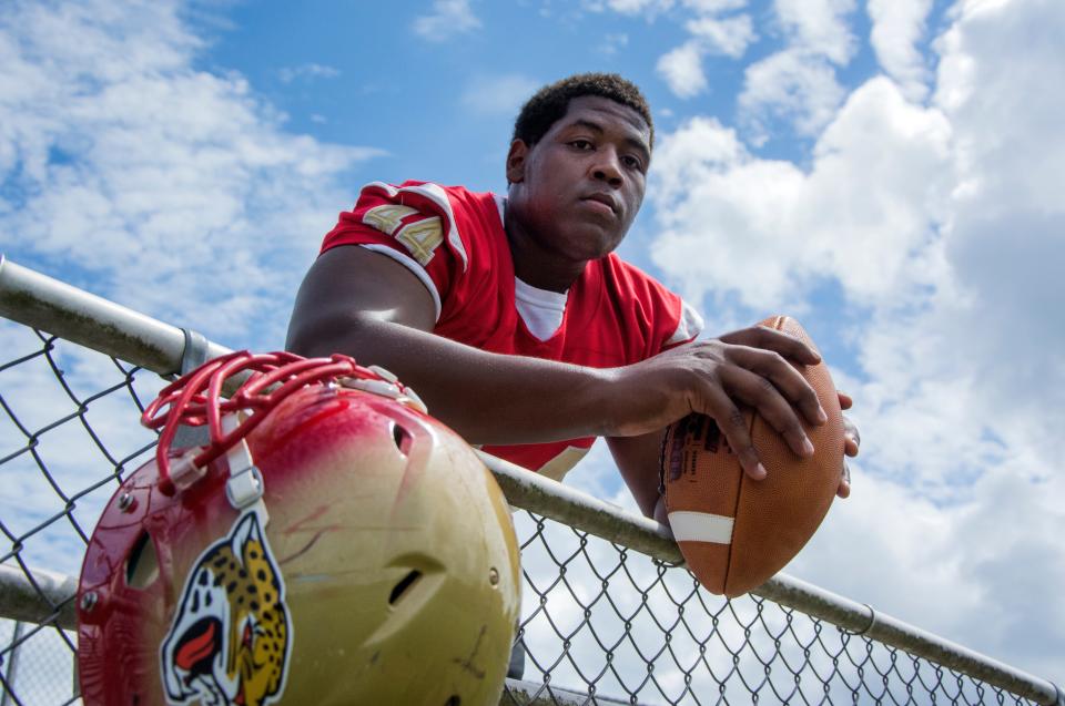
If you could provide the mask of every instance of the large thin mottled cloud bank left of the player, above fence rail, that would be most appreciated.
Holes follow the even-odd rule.
[[[237,74],[194,68],[173,2],[9,4],[0,18],[3,247],[230,345],[284,311],[379,151],[284,131]],[[264,311],[272,314],[264,317]]]

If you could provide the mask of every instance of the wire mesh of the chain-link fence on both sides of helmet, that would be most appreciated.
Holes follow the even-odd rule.
[[[150,457],[138,416],[164,381],[2,319],[0,340],[0,564],[77,575],[104,503]],[[1034,703],[772,601],[713,596],[682,566],[535,513],[515,522],[535,688],[503,704]],[[39,624],[0,618],[0,706],[78,700],[75,636],[48,605]]]

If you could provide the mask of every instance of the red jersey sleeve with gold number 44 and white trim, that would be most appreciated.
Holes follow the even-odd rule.
[[[364,186],[355,207],[326,234],[321,253],[341,245],[365,247],[409,269],[429,290],[437,320],[442,301],[469,265],[447,190],[427,182]]]

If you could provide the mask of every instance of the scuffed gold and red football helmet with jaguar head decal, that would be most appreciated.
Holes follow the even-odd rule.
[[[85,704],[498,703],[520,607],[510,514],[408,388],[346,356],[237,352],[142,421],[155,459],[82,566]],[[180,427],[210,439],[178,449]]]

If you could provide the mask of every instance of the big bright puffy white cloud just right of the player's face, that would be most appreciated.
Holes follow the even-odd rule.
[[[929,204],[947,194],[949,139],[942,115],[906,104],[886,80],[850,98],[809,174],[758,160],[733,131],[694,119],[656,151],[653,258],[697,300],[712,287],[765,308],[822,277],[862,300],[893,298],[922,275],[910,263],[930,235]],[[881,151],[895,158],[878,160]]]

